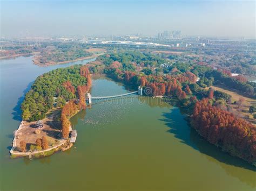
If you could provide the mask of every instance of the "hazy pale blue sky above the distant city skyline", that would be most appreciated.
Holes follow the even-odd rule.
[[[255,1],[1,1],[1,36],[111,35],[164,30],[255,38]]]

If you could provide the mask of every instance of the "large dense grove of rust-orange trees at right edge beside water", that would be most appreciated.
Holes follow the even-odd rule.
[[[214,107],[207,98],[197,102],[191,125],[208,142],[249,162],[256,161],[256,128],[231,112]]]

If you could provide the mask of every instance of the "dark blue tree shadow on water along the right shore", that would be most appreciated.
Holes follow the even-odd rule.
[[[230,154],[221,151],[220,147],[208,143],[196,132],[196,130],[190,128],[187,121],[184,120],[184,116],[180,114],[178,108],[174,108],[170,112],[164,113],[163,117],[164,118],[160,119],[160,121],[165,122],[170,128],[168,132],[178,138],[181,143],[191,146],[200,153],[206,154],[224,164],[249,169],[254,172],[256,171],[255,166],[248,164],[248,162],[238,157],[233,157]],[[206,158],[209,160],[209,157]],[[217,163],[215,160],[211,161]],[[221,166],[223,167],[224,165]]]

